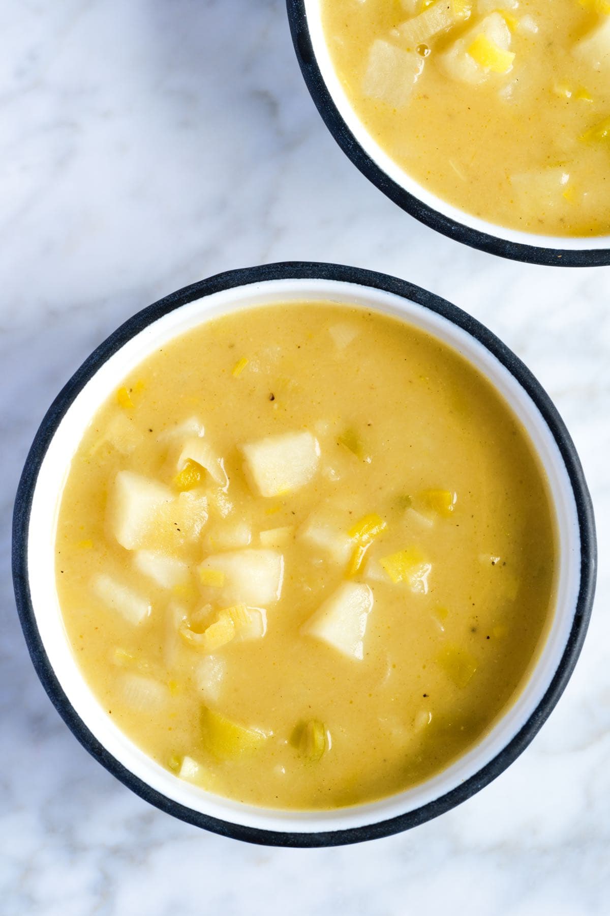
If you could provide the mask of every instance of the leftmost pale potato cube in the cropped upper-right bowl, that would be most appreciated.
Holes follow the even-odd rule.
[[[362,93],[392,108],[402,108],[412,96],[415,83],[423,71],[423,62],[423,57],[414,50],[397,48],[389,41],[377,38],[369,50]]]

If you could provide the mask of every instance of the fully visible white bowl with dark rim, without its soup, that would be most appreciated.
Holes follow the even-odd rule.
[[[55,583],[62,486],[83,432],[148,354],[210,318],[262,304],[331,300],[393,315],[444,342],[489,379],[530,435],[547,474],[558,532],[557,599],[540,657],[516,701],[466,755],[419,786],[329,812],[284,812],[219,798],[144,754],[92,694],[70,649]],[[252,843],[340,845],[394,834],[465,801],[519,756],[559,699],[583,644],[594,595],[591,499],[573,442],[551,399],[518,357],[473,318],[432,293],[383,274],[286,263],[230,271],[155,302],[95,350],[59,393],[27,456],[16,496],[16,604],[38,677],[91,755],[157,808]]]

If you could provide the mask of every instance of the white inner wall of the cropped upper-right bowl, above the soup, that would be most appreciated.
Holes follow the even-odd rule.
[[[395,184],[413,197],[423,202],[427,207],[456,223],[461,223],[477,233],[505,239],[517,245],[530,245],[542,249],[562,249],[563,251],[603,251],[610,248],[610,235],[597,235],[586,237],[571,237],[563,235],[538,235],[534,233],[519,232],[517,229],[508,229],[498,224],[479,219],[471,213],[466,213],[454,207],[451,203],[437,197],[417,181],[412,179],[400,166],[388,156],[376,140],[370,136],[366,126],[354,110],[348,95],[340,82],[335,70],[330,51],[326,43],[324,28],[322,27],[322,0],[303,0],[305,16],[312,47],[316,56],[317,66],[330,93],[337,111],[348,126],[348,130],[356,138],[359,146],[373,160]]]

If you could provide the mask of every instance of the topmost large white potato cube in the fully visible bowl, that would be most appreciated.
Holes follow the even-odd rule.
[[[316,474],[320,447],[311,432],[285,432],[241,446],[246,469],[261,496],[282,496]]]

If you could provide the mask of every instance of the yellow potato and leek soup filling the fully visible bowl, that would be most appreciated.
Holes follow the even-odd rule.
[[[377,311],[263,306],[173,339],[95,415],[59,602],[104,710],[178,779],[332,809],[432,777],[516,699],[553,518],[460,354]]]

